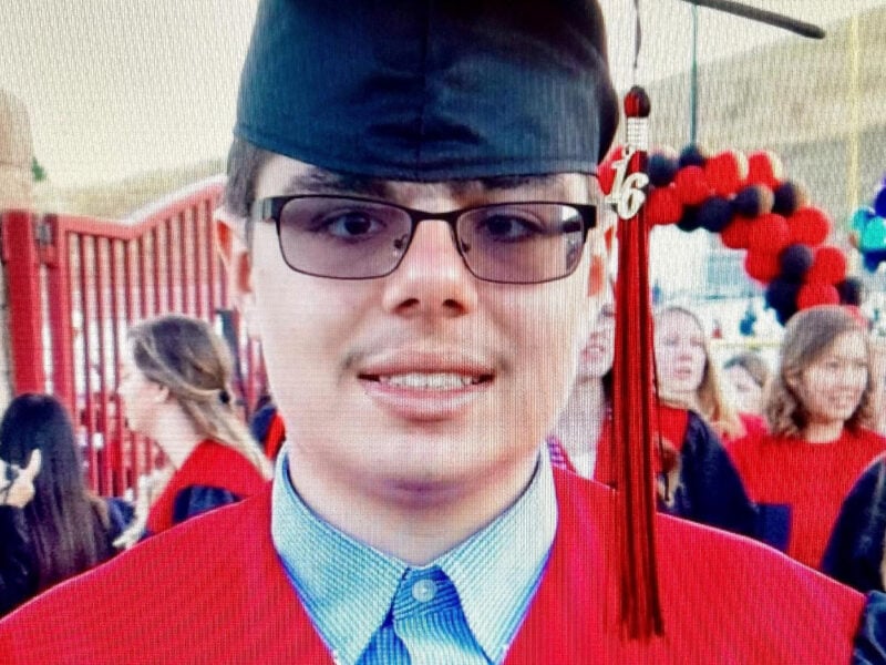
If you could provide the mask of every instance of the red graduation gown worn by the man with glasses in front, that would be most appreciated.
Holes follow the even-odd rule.
[[[864,597],[758,543],[659,515],[667,637],[616,623],[612,493],[555,470],[559,522],[505,665],[849,663]],[[189,520],[0,622],[0,662],[332,664],[270,539],[270,491]]]

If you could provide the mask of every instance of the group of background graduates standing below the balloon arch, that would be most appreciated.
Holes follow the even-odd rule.
[[[820,306],[795,315],[777,368],[754,351],[719,367],[701,319],[683,306],[661,308],[655,329],[659,508],[761,540],[862,591],[882,590],[884,377],[857,313]],[[606,428],[612,345],[604,309],[547,444],[555,464],[615,485]]]

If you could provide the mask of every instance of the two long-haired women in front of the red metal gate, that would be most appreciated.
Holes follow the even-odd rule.
[[[85,484],[71,419],[50,395],[25,393],[0,423],[0,615],[137,542],[257,493],[265,458],[230,399],[231,357],[202,320],[166,315],[128,332],[120,395],[128,428],[166,464],[135,503]]]

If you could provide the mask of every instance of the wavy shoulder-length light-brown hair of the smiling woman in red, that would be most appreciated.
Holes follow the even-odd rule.
[[[834,340],[846,332],[862,332],[867,355],[867,385],[853,415],[846,421],[849,430],[868,427],[874,421],[876,374],[872,367],[870,342],[858,321],[839,305],[823,305],[799,311],[784,329],[779,358],[779,372],[770,381],[763,413],[773,434],[799,437],[808,416],[797,385],[803,372],[827,351]]]

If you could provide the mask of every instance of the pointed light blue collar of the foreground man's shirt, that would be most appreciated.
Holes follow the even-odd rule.
[[[557,501],[539,456],[523,494],[488,526],[429,564],[452,580],[475,640],[498,662],[540,579],[554,542]],[[271,536],[308,614],[333,652],[354,663],[381,626],[410,566],[342,533],[301,501],[279,456]]]

